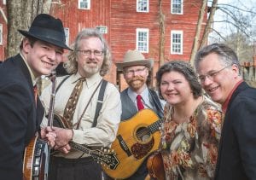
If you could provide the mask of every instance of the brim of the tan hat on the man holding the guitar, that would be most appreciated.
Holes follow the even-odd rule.
[[[131,66],[145,66],[148,69],[151,69],[154,65],[153,59],[146,59],[146,60],[138,60],[138,61],[128,61],[128,62],[117,62],[115,63],[118,70],[123,71],[125,67]]]

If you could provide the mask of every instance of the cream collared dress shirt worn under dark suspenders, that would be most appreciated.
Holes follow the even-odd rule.
[[[64,77],[57,78],[57,85],[60,84]],[[71,95],[75,82],[81,78],[79,73],[71,75],[67,80],[61,85],[60,89],[55,94],[55,107],[54,113],[63,116],[64,109],[67,104],[67,100]],[[92,96],[96,86],[101,82],[102,77],[99,73],[94,74],[90,78],[86,78],[83,84],[83,90],[79,96],[79,102],[73,114],[73,125],[77,123],[84,112],[84,108],[90,101],[90,96]],[[102,109],[100,110],[96,127],[91,127],[95,112],[96,103],[99,95],[99,90],[96,90],[95,95],[89,102],[79,128],[73,130],[73,142],[79,144],[85,144],[87,146],[94,147],[108,147],[114,141],[116,133],[118,131],[120,116],[121,116],[121,101],[119,96],[119,90],[111,83],[107,84]],[[46,107],[46,111],[49,109],[50,102],[51,85],[45,88],[41,95],[42,102]],[[47,119],[44,118],[41,126],[47,125]],[[56,156],[62,156],[65,158],[76,159],[79,158],[83,153],[72,150],[68,154],[56,154]],[[84,154],[83,157],[88,156]]]

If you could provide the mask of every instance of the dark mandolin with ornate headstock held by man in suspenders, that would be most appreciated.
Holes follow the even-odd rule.
[[[53,125],[55,127],[69,128],[67,120],[58,114],[54,115]],[[101,163],[102,165],[108,166],[111,170],[115,169],[119,165],[119,160],[115,152],[113,152],[113,150],[111,151],[109,148],[92,150],[85,145],[76,142],[69,142],[69,145],[75,150],[79,150],[85,154],[90,154],[93,160],[96,160],[96,162]]]

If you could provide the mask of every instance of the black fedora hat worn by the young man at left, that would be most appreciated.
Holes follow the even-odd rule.
[[[25,37],[32,37],[54,44],[63,49],[70,49],[66,45],[65,32],[60,19],[51,15],[40,14],[33,21],[29,31],[18,30]]]

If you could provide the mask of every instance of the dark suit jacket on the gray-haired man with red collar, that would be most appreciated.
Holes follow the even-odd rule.
[[[225,113],[215,179],[256,179],[256,89],[245,82],[234,91]]]

